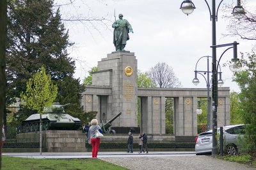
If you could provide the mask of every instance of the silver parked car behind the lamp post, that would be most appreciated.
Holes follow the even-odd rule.
[[[243,139],[245,134],[244,125],[229,125],[223,127],[223,149],[228,155],[236,155],[239,148],[239,137]],[[220,128],[218,128],[220,134]],[[205,155],[212,153],[212,130],[202,132],[195,138],[196,155]]]

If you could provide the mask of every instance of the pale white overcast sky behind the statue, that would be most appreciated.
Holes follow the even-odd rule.
[[[61,3],[68,0],[58,0]],[[65,27],[69,30],[70,41],[75,43],[75,47],[70,49],[70,56],[76,59],[75,77],[84,79],[88,71],[101,58],[106,58],[107,54],[115,51],[113,45],[113,24],[114,10],[116,19],[122,13],[134,31],[130,33],[130,40],[127,42],[125,50],[134,52],[138,59],[138,69],[147,72],[158,62],[164,62],[172,66],[175,75],[179,78],[182,88],[206,88],[204,77],[198,75],[200,84],[195,86],[192,83],[195,77],[196,61],[202,56],[211,56],[210,48],[212,43],[212,22],[209,10],[204,1],[196,1],[195,11],[187,16],[180,10],[183,0],[76,0],[70,6],[61,7],[62,17],[67,16],[92,16],[106,17],[110,21],[107,26],[92,22],[65,22]],[[216,0],[216,5],[220,0]],[[236,1],[234,1],[236,3]],[[232,0],[223,1],[232,3]],[[255,0],[242,0],[242,5],[249,9],[256,6]],[[211,7],[211,1],[209,1]],[[221,4],[221,7],[225,4]],[[216,43],[239,42],[238,52],[250,52],[253,41],[245,41],[235,37],[223,37],[221,34],[227,32],[228,20],[222,19],[221,10],[216,22]],[[217,59],[226,48],[217,49]],[[225,63],[232,59],[233,50],[225,53],[220,63]],[[238,55],[240,58],[240,54]],[[210,59],[211,66],[211,59]],[[207,70],[207,60],[201,59],[197,70]],[[210,68],[211,71],[211,68]],[[221,66],[224,86],[229,86],[231,90],[239,91],[236,82],[232,82],[232,72],[228,66]],[[205,77],[206,78],[206,77]]]

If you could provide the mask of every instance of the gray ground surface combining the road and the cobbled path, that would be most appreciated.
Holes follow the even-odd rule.
[[[26,158],[91,158],[90,152],[68,153],[3,153],[4,156]],[[196,156],[195,151],[152,151],[139,154],[122,151],[99,152],[98,158],[127,169],[255,169],[244,164],[228,162],[211,156]]]

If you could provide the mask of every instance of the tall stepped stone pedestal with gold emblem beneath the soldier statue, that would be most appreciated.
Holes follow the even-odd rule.
[[[110,120],[119,112],[121,116],[113,121],[113,127],[137,127],[137,60],[133,52],[112,52],[98,62],[98,72],[92,74],[93,86],[109,86],[111,95],[98,96],[97,118]],[[86,107],[86,109],[91,109]]]

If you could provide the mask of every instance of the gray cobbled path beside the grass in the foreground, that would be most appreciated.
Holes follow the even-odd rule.
[[[240,170],[255,169],[244,164],[228,162],[209,156],[172,156],[172,157],[120,157],[100,158],[107,162],[126,167],[128,169],[216,169],[216,170]]]

